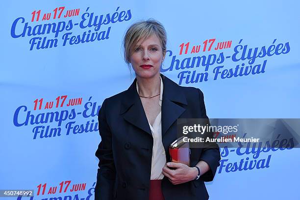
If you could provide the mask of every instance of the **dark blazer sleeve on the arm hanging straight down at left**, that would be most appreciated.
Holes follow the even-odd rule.
[[[99,169],[95,187],[95,200],[113,199],[113,188],[116,177],[116,169],[112,152],[112,135],[106,121],[105,103],[106,99],[103,101],[98,114],[101,142],[95,154],[99,159]]]

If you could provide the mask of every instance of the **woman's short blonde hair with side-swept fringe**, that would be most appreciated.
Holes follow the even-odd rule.
[[[153,19],[140,21],[127,29],[123,39],[124,59],[127,64],[130,63],[130,53],[134,45],[140,40],[146,40],[153,34],[160,39],[163,55],[166,55],[167,33],[164,26]]]

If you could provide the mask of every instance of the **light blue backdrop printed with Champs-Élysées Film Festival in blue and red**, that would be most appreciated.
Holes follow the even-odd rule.
[[[300,118],[297,0],[31,0],[1,7],[0,190],[34,196],[0,200],[94,200],[98,111],[135,78],[122,40],[140,20],[165,26],[161,73],[200,88],[208,117]],[[221,166],[205,183],[211,200],[299,197],[299,149],[220,150]]]

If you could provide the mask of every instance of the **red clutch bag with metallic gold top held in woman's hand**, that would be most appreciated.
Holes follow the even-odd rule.
[[[169,146],[171,162],[182,163],[190,167],[190,146],[188,142],[184,142],[182,136],[175,140]]]

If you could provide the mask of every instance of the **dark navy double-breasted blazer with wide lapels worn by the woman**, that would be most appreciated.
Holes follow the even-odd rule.
[[[176,119],[207,118],[203,93],[195,87],[178,86],[162,75],[162,143],[170,161],[169,145],[176,139]],[[136,90],[131,86],[104,100],[99,111],[101,142],[96,151],[99,158],[95,200],[148,200],[153,138],[149,123]],[[198,180],[173,185],[162,180],[165,200],[207,200],[203,181],[212,181],[220,165],[220,150],[191,148],[191,166],[200,160],[210,171]]]

